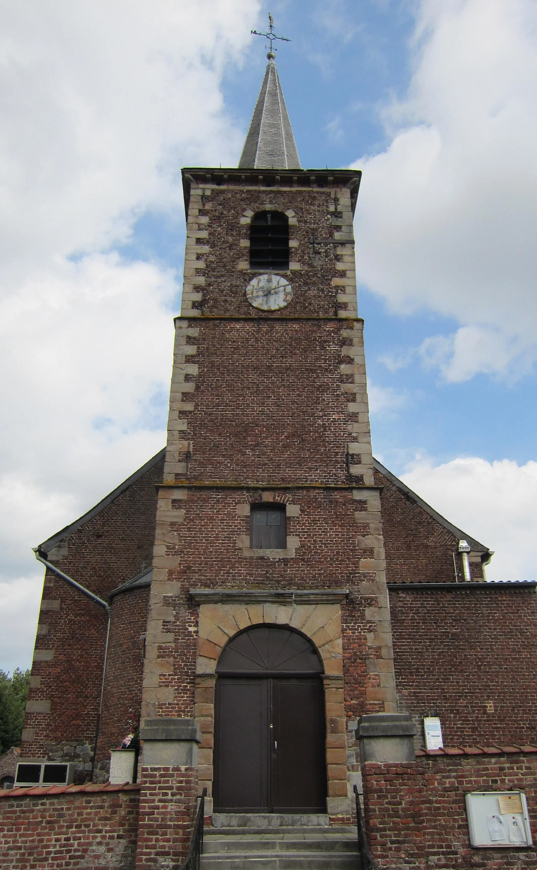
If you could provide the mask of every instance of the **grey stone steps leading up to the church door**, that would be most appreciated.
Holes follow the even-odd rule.
[[[325,815],[215,813],[201,870],[359,870],[355,827]]]

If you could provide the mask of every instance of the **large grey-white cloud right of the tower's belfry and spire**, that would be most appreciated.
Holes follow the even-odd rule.
[[[537,358],[537,6],[424,0],[414,51],[392,143],[354,164],[358,278],[460,323],[447,379],[511,377]]]

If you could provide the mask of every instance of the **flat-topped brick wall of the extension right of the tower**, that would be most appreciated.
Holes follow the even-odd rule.
[[[399,701],[446,746],[537,742],[534,589],[390,592]]]

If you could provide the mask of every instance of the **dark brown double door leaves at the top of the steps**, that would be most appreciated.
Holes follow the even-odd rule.
[[[261,646],[259,639],[254,641]],[[284,639],[279,636],[278,640]],[[296,640],[293,643],[297,646]],[[295,655],[295,666],[296,659]],[[289,670],[286,676],[272,667],[266,667],[267,672],[271,675],[257,676],[252,670],[248,676],[218,675],[214,809],[326,813],[322,680],[315,674],[302,676]]]

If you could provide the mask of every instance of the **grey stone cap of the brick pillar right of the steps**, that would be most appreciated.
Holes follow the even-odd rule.
[[[360,716],[356,729],[360,760],[415,761],[416,726],[408,713],[371,713]]]

